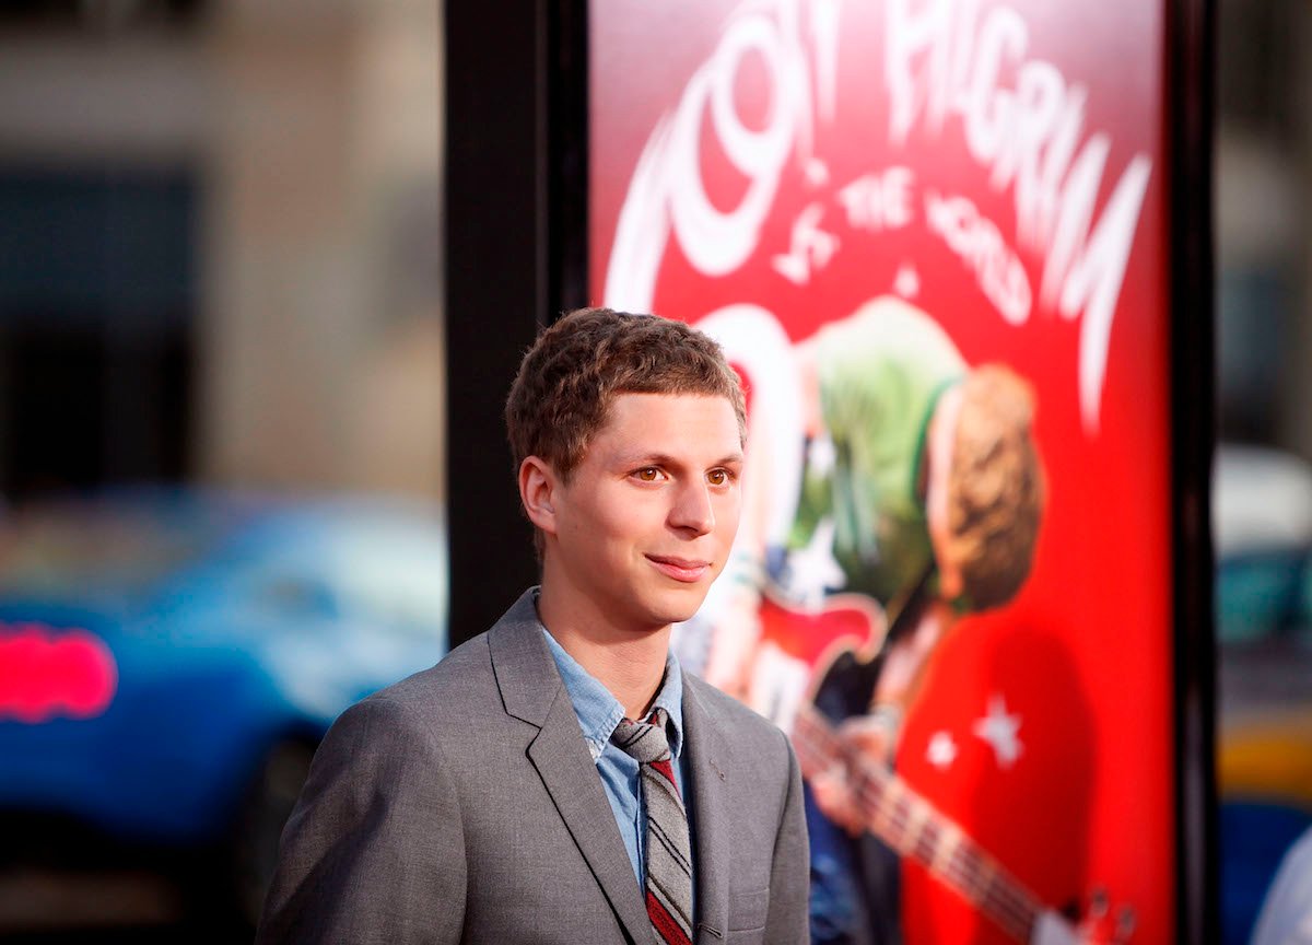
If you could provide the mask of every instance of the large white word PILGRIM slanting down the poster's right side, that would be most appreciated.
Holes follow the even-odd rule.
[[[1042,298],[1064,318],[1082,318],[1080,408],[1096,430],[1111,323],[1152,161],[1141,154],[1130,159],[1094,222],[1111,140],[1093,133],[1076,155],[1088,92],[1054,64],[1025,58],[1029,28],[1021,14],[998,5],[981,17],[979,0],[888,0],[887,7],[890,135],[905,142],[921,116],[933,131],[956,116],[971,156],[991,169],[989,185],[1001,192],[1014,184],[1019,242],[1044,256]],[[1012,70],[1014,88],[1001,81]],[[1019,324],[1017,310],[989,299]]]

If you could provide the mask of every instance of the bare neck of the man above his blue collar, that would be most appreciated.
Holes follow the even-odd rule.
[[[640,719],[665,676],[670,627],[617,627],[589,601],[567,601],[543,580],[538,618],[579,665],[619,700],[625,715]]]

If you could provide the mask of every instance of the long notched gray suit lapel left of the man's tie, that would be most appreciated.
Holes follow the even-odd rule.
[[[579,717],[542,639],[533,592],[488,633],[506,713],[538,727],[529,760],[632,942],[651,940],[651,921],[615,814],[588,753]]]

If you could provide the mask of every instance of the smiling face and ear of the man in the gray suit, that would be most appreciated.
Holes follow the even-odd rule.
[[[618,395],[569,484],[552,494],[552,591],[618,630],[687,620],[733,543],[741,471],[726,398]]]

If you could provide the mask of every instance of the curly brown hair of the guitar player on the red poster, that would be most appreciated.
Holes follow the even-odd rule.
[[[1034,406],[1030,385],[1002,365],[983,365],[964,381],[949,486],[949,546],[975,610],[1010,601],[1034,562],[1047,501]]]

